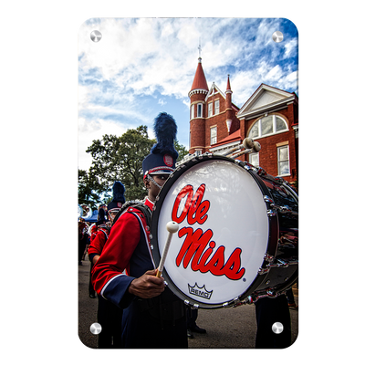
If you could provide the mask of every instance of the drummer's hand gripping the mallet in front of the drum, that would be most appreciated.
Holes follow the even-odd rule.
[[[128,291],[137,297],[151,298],[159,296],[165,289],[164,278],[156,277],[157,268],[146,271],[141,277],[131,281]]]

